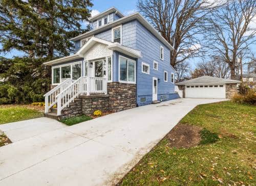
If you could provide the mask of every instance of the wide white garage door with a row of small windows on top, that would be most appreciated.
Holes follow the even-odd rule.
[[[225,85],[185,86],[185,96],[190,98],[226,98]]]

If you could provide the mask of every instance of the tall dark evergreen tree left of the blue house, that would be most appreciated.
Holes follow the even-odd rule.
[[[4,79],[1,84],[5,87],[0,98],[13,101],[8,90],[15,88],[20,97],[28,92],[36,95],[16,102],[42,99],[51,74],[42,63],[74,52],[69,39],[88,31],[80,23],[91,16],[88,7],[92,5],[90,0],[0,0],[0,52],[17,49],[25,54],[22,58],[0,59],[0,79]],[[25,91],[27,86],[36,91]]]

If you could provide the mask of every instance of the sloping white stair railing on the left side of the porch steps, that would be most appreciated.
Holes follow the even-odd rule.
[[[57,95],[65,90],[72,83],[72,79],[68,78],[65,81],[61,82],[58,86],[47,92],[45,97],[45,113],[49,113],[49,110],[57,103]]]

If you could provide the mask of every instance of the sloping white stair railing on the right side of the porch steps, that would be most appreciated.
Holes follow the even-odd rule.
[[[80,94],[86,94],[87,77],[80,77],[65,90],[61,91],[57,96],[57,115],[61,115],[61,111],[69,107],[69,104],[74,101]]]

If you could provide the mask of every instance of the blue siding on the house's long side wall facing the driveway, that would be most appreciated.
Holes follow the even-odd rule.
[[[160,46],[164,48],[164,61],[160,59]],[[139,21],[136,21],[136,49],[142,52],[142,58],[139,58],[137,63],[137,104],[152,102],[153,77],[159,79],[158,100],[161,96],[166,97],[166,100],[175,98],[177,96],[174,94],[175,85],[170,83],[171,73],[175,73],[169,64],[170,50]],[[154,60],[158,62],[158,70],[154,70]],[[150,74],[142,73],[142,62],[150,65]],[[164,82],[164,71],[168,73],[168,82]],[[145,97],[147,101],[141,103],[141,97]]]

